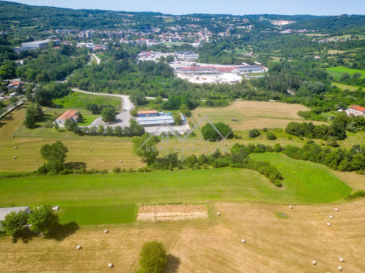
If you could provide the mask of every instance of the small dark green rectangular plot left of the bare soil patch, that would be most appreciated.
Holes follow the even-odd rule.
[[[137,219],[138,207],[133,204],[109,206],[64,206],[57,213],[61,223],[77,219],[79,225],[132,223]]]

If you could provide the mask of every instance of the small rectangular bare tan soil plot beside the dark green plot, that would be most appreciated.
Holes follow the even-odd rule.
[[[208,218],[207,205],[161,205],[140,206],[137,222],[140,221],[177,221]]]

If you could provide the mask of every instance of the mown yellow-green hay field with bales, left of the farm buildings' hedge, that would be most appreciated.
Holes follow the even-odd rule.
[[[22,106],[0,120],[0,172],[36,170],[44,162],[39,152],[41,146],[58,140],[68,147],[65,163],[71,168],[112,170],[115,167],[128,169],[143,166],[139,158],[132,155],[130,138],[81,137],[62,128],[58,132],[43,127],[30,130],[22,124],[25,110],[26,106]],[[12,132],[14,138],[11,137]],[[14,156],[17,158],[14,159]],[[120,163],[120,160],[123,162]]]

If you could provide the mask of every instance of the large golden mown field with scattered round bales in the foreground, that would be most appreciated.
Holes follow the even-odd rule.
[[[166,272],[336,272],[337,266],[364,272],[364,199],[328,205],[211,202],[210,210],[209,219],[84,227],[59,241],[39,237],[14,244],[2,237],[0,270],[109,272],[112,262],[115,272],[133,272],[142,245],[156,240],[167,249]]]

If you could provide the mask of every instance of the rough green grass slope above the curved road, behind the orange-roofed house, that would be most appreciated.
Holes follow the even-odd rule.
[[[114,96],[95,96],[81,92],[71,92],[69,95],[61,99],[54,99],[54,104],[61,106],[60,108],[73,108],[76,110],[87,109],[88,104],[111,104],[116,110],[120,109],[121,99]]]

